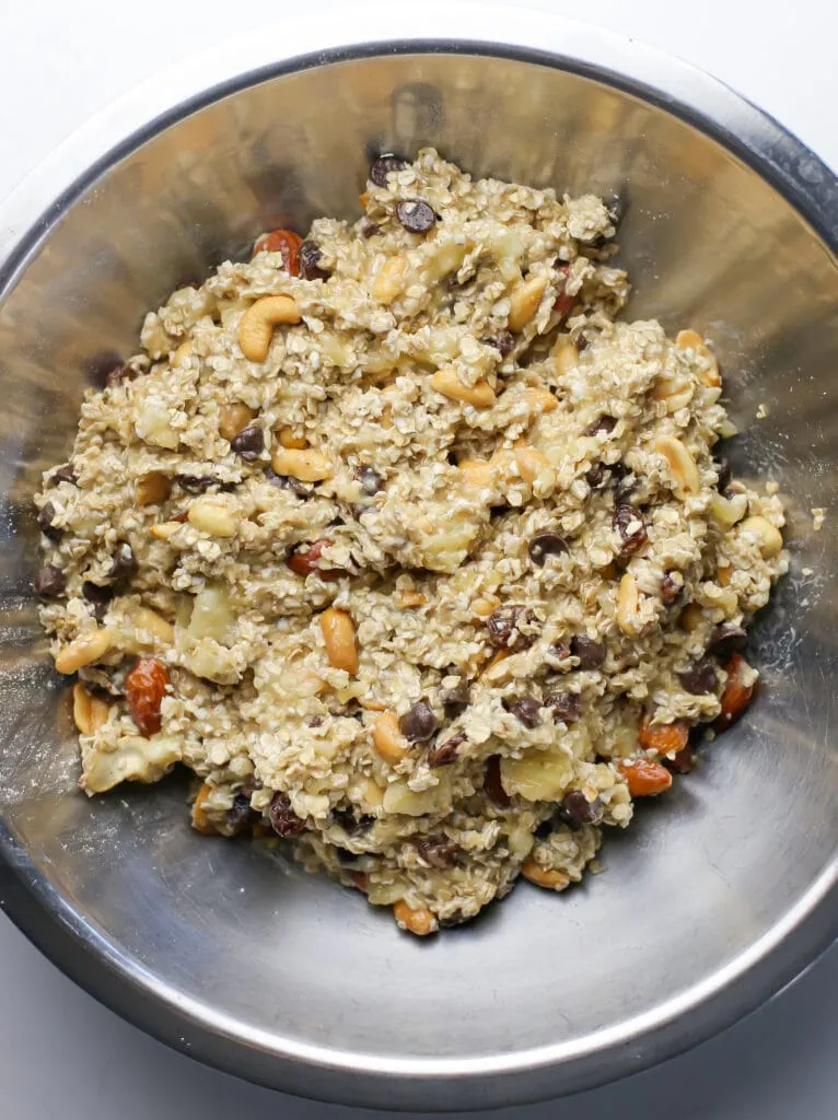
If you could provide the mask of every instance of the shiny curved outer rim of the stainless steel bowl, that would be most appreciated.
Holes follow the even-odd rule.
[[[503,27],[502,40],[475,37]],[[243,36],[155,75],[74,132],[0,203],[0,301],[55,225],[97,179],[185,116],[246,87],[313,67],[394,54],[466,54],[569,71],[651,102],[711,137],[770,183],[838,252],[838,178],[773,118],[696,67],[611,31],[500,4],[423,4],[428,26],[380,3],[283,22],[281,38]],[[435,19],[434,16],[439,18]],[[364,35],[359,37],[356,28]],[[371,29],[374,28],[374,31]],[[280,54],[273,43],[283,44]],[[186,998],[73,908],[0,819],[0,906],[68,977],[123,1018],[192,1057],[271,1088],[339,1103],[471,1109],[577,1092],[702,1042],[785,987],[838,934],[838,856],[783,918],[705,980],[572,1043],[481,1058],[383,1058],[243,1029]],[[678,1029],[672,1030],[677,1021]],[[314,1075],[316,1074],[316,1075]],[[479,1098],[475,1085],[479,1081]]]

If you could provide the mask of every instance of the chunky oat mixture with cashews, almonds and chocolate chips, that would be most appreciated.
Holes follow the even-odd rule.
[[[692,765],[788,567],[693,330],[617,316],[593,196],[382,157],[355,224],[261,237],[146,317],[37,497],[82,787],[201,780],[412,933]],[[695,735],[692,736],[695,739]]]

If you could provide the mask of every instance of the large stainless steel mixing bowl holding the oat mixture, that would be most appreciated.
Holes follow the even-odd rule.
[[[838,926],[836,179],[657,53],[449,7],[421,9],[444,38],[353,4],[183,65],[0,211],[2,905],[95,996],[193,1056],[416,1109],[531,1100],[660,1061],[776,991]],[[431,944],[361,896],[194,834],[177,783],[78,795],[29,590],[39,473],[143,311],[266,226],[356,214],[371,153],[426,143],[478,175],[624,200],[632,311],[716,340],[744,429],[733,458],[789,495],[793,556],[756,627],[758,703],[607,838],[606,874],[566,897],[523,886]],[[818,506],[832,512],[814,533]]]

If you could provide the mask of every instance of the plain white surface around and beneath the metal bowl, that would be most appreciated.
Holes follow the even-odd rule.
[[[0,196],[122,91],[225,36],[336,0],[0,0]],[[398,2],[398,0],[394,0]],[[404,0],[401,0],[404,2]],[[421,0],[409,0],[421,35]],[[451,0],[463,2],[463,0]],[[514,2],[514,0],[513,0]],[[343,0],[348,7],[352,0]],[[519,0],[645,39],[723,78],[838,167],[834,0]],[[475,19],[475,36],[479,22]],[[497,32],[497,29],[493,28]],[[363,28],[359,28],[362,34]],[[778,822],[782,827],[782,822]],[[710,1043],[515,1120],[836,1120],[838,949]],[[64,979],[0,916],[2,1120],[371,1120],[198,1066]]]

